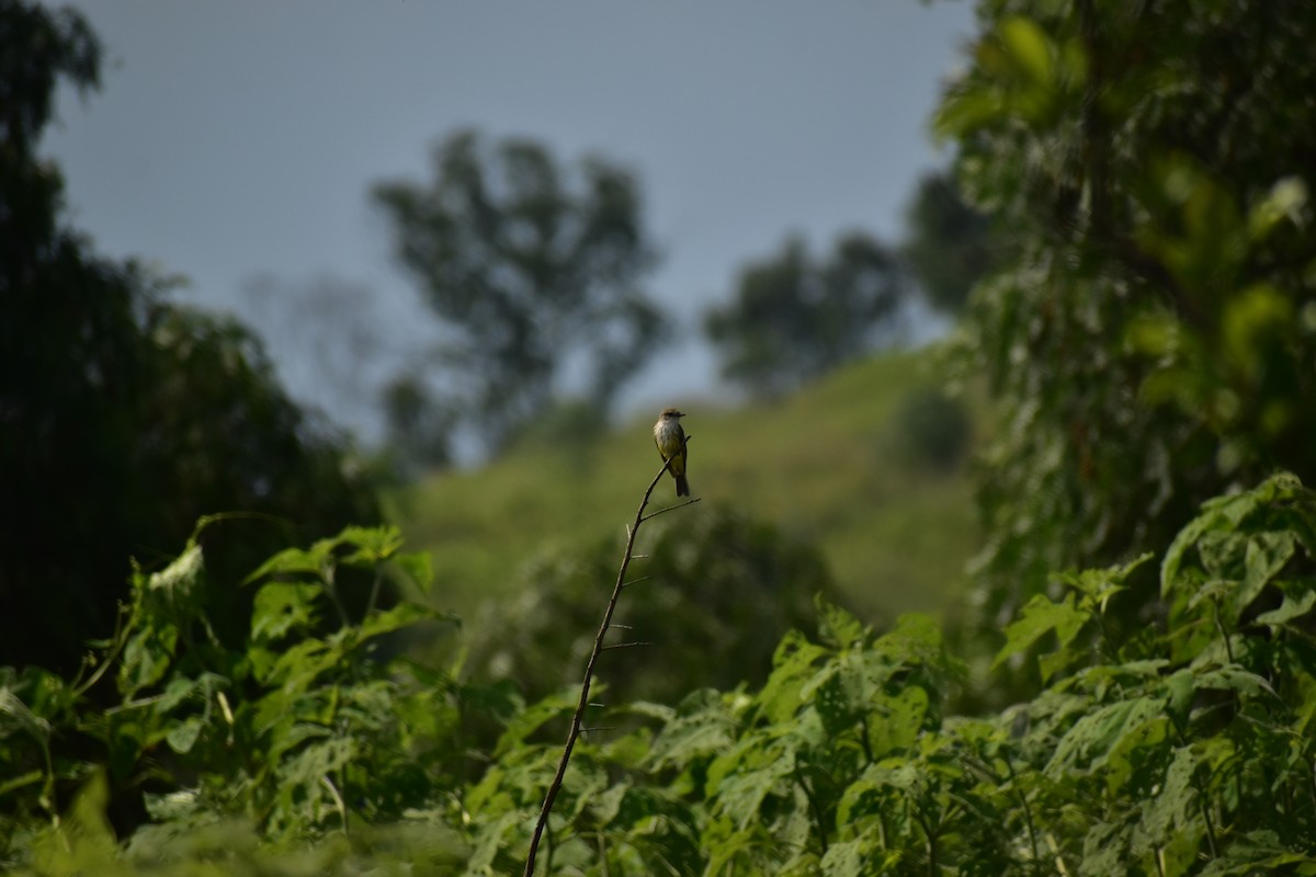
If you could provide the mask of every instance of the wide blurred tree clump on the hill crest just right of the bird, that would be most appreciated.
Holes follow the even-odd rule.
[[[704,314],[722,376],[761,397],[778,396],[855,359],[904,298],[895,258],[859,233],[815,262],[799,238],[746,266],[734,300]]]

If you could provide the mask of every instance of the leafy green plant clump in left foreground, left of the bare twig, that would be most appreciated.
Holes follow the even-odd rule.
[[[230,651],[204,614],[193,538],[167,568],[134,572],[86,678],[0,669],[0,860],[58,870],[61,838],[84,841],[87,806],[109,817],[96,836],[137,828],[129,849],[146,859],[196,831],[204,847],[232,820],[304,838],[445,806],[472,769],[463,723],[512,701],[393,655],[397,631],[445,621],[415,602],[379,607],[386,576],[429,585],[428,557],[400,544],[395,530],[349,527],[274,555],[247,577],[254,609]],[[91,694],[111,682],[103,707]]]

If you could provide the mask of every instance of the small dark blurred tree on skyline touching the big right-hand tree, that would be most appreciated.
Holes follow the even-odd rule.
[[[1004,258],[1004,235],[969,206],[946,172],[919,180],[905,210],[908,226],[900,255],[933,308],[958,314],[969,291]]]

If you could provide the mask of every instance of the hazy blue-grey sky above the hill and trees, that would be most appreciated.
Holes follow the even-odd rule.
[[[101,91],[62,95],[42,143],[72,225],[188,277],[180,298],[251,323],[295,396],[366,435],[362,392],[432,322],[368,189],[428,181],[445,135],[636,172],[663,254],[647,288],[682,342],[624,409],[686,404],[720,391],[701,314],[741,266],[792,233],[816,251],[899,238],[917,176],[948,162],[929,118],[973,32],[966,0],[47,5],[83,11],[105,47]],[[328,308],[355,314],[383,371],[315,355]]]

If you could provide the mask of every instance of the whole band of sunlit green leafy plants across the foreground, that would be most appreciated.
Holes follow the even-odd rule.
[[[541,730],[570,690],[519,709],[372,651],[432,618],[412,604],[311,634],[342,568],[426,580],[392,531],[265,563],[242,655],[197,614],[203,559],[193,542],[134,577],[100,671],[120,705],[0,673],[11,870],[520,868],[558,757]],[[982,681],[929,618],[875,635],[822,601],[817,635],[788,632],[759,688],[600,710],[628,730],[576,746],[540,873],[1316,874],[1316,492],[1280,475],[1208,502],[1165,551],[1163,623],[1112,634],[1146,560],[1029,602],[996,660],[1040,655],[1045,688],[996,714],[953,714]],[[505,728],[479,753],[472,711]],[[118,843],[107,814],[130,789],[150,822]]]

